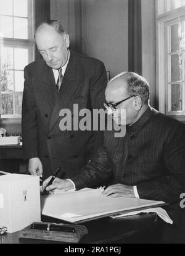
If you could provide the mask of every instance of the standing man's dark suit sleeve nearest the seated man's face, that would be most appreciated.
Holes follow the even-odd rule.
[[[104,109],[105,102],[105,88],[107,86],[107,74],[104,64],[97,62],[94,75],[91,78],[90,85],[90,97],[91,97],[91,109]],[[104,130],[100,130],[100,122],[98,124],[98,131],[94,132],[94,152],[101,147],[104,141]]]

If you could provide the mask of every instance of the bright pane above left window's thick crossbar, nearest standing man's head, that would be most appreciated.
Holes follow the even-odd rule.
[[[14,18],[14,38],[28,39],[28,20]]]

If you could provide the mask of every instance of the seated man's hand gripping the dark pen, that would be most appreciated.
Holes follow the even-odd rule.
[[[47,184],[49,183],[49,181],[51,180],[51,177],[52,176],[48,177],[43,182],[43,191],[46,188],[46,191],[48,191],[49,194],[52,194],[54,192],[54,189],[62,189],[65,191],[74,189],[74,186],[71,181],[68,181],[66,179],[59,179],[57,177],[54,179],[54,182],[52,182],[52,184],[50,186],[46,187]]]

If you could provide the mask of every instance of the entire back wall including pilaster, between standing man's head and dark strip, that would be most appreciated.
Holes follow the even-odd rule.
[[[61,20],[79,51],[103,61],[111,76],[128,70],[128,0],[51,0],[51,19]]]

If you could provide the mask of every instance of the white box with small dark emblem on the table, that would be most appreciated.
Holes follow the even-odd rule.
[[[0,176],[0,228],[14,233],[34,221],[41,221],[39,176]]]

